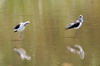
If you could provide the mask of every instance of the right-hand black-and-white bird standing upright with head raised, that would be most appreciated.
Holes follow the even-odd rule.
[[[72,22],[72,23],[70,23],[70,24],[68,24],[66,27],[65,27],[65,30],[67,30],[67,29],[78,29],[78,28],[80,28],[81,26],[82,26],[82,23],[83,23],[83,16],[82,15],[80,15],[79,16],[79,19],[78,20],[76,20],[76,21],[74,21],[74,22]]]

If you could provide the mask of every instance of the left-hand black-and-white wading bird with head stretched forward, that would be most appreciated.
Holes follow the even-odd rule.
[[[22,38],[22,32],[25,30],[26,25],[30,24],[30,21],[21,22],[14,27],[14,32],[19,32],[20,38]]]

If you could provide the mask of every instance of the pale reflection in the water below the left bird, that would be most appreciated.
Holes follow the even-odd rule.
[[[28,56],[23,48],[14,48],[14,51],[20,55],[22,60],[31,60],[31,56]]]

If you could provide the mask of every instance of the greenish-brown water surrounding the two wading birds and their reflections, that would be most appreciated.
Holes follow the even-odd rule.
[[[100,66],[99,12],[99,0],[0,0],[0,65]],[[82,27],[66,31],[79,15]],[[31,23],[19,41],[13,28],[21,21]],[[76,44],[83,47],[84,59],[67,50]],[[24,48],[32,60],[21,60],[15,47]]]

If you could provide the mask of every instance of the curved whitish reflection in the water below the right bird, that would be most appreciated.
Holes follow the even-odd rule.
[[[84,50],[80,45],[74,45],[73,47],[71,46],[67,46],[67,49],[72,52],[72,53],[76,53],[80,56],[81,59],[84,59]]]

